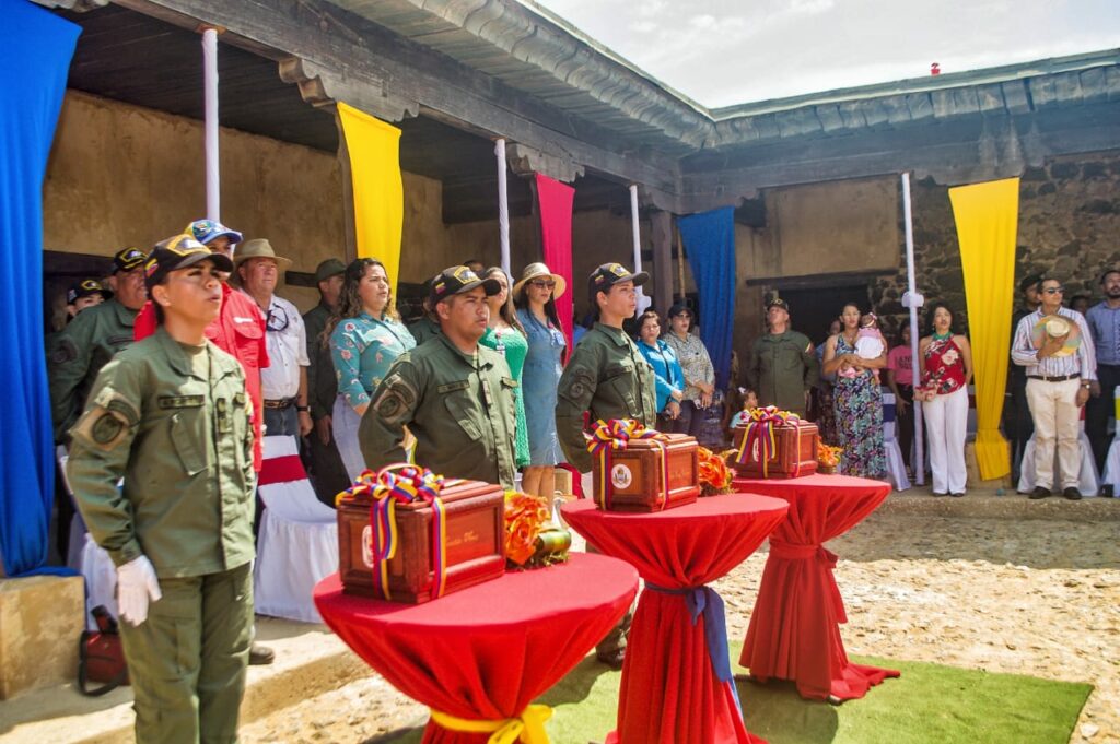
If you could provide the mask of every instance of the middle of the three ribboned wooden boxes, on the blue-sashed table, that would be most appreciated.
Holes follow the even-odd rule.
[[[612,418],[596,424],[587,449],[600,509],[661,511],[693,503],[700,495],[697,441],[687,434]]]

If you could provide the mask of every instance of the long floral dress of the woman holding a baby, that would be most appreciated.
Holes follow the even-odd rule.
[[[855,354],[843,333],[837,336],[836,355]],[[837,431],[843,453],[840,472],[861,478],[883,478],[887,471],[886,448],[883,444],[883,389],[871,370],[856,377],[837,376],[833,394]]]

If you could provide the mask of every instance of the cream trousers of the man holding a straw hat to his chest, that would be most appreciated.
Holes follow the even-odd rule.
[[[1057,448],[1061,488],[1077,488],[1081,473],[1081,407],[1077,390],[1081,379],[1061,383],[1027,380],[1027,405],[1035,422],[1035,487],[1053,489],[1054,448]]]

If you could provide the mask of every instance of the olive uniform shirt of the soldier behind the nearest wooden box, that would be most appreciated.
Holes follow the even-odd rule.
[[[440,335],[402,354],[362,416],[366,465],[403,462],[408,426],[417,437],[418,465],[512,489],[516,387],[502,355],[484,346],[472,356]]]

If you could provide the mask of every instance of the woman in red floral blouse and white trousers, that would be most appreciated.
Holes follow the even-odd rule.
[[[964,434],[969,422],[972,347],[953,333],[953,311],[944,302],[930,308],[930,336],[918,342],[922,383],[914,397],[922,401],[930,439],[933,495],[964,496]]]

